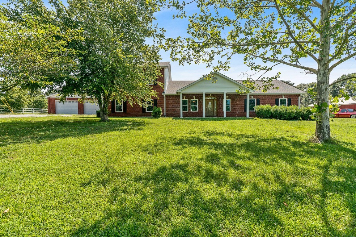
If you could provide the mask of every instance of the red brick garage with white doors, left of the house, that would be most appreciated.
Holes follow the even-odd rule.
[[[59,101],[58,93],[47,96],[49,114],[96,114],[98,104],[78,101],[79,97],[66,97],[66,101]]]

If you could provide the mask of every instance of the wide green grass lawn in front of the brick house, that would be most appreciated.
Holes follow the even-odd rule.
[[[356,236],[356,120],[314,128],[0,119],[0,236]]]

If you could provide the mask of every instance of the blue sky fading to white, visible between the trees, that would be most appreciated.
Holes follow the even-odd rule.
[[[0,3],[5,3],[6,0],[0,0]],[[188,13],[192,14],[194,11],[197,11],[196,7],[193,5],[189,6]],[[172,9],[163,9],[155,14],[159,27],[163,27],[166,29],[166,37],[176,38],[178,36],[188,36],[187,35],[187,27],[188,20],[186,18],[180,19],[175,18],[173,20],[173,14],[176,10]],[[165,52],[161,50],[160,52],[162,61],[171,61],[171,70],[172,70],[172,80],[197,80],[202,75],[208,74],[211,69],[206,68],[204,64],[194,64],[191,65],[185,64],[184,66],[180,66],[178,62],[172,61],[170,58],[170,52]],[[221,73],[226,76],[231,77],[234,80],[243,80],[244,77],[242,72],[249,72],[249,68],[244,64],[243,61],[244,55],[235,55],[230,63],[231,68],[229,71],[221,71]],[[303,65],[306,66],[314,66],[312,60],[307,60]],[[278,65],[274,67],[274,70],[269,75],[276,75],[277,72],[281,72],[280,79],[282,80],[290,80],[295,84],[299,83],[308,83],[315,82],[316,76],[314,74],[304,74],[302,73],[302,69],[293,68],[287,65]],[[356,60],[350,59],[339,65],[336,69],[331,72],[330,82],[333,82],[337,78],[339,78],[342,74],[348,74],[356,72]]]

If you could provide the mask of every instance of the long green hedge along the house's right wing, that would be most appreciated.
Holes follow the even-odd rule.
[[[281,120],[308,120],[312,114],[309,108],[298,108],[298,106],[255,106],[255,113],[258,118],[274,118]]]

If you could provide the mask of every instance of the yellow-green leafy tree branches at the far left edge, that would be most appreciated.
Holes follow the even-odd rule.
[[[80,29],[62,31],[22,12],[10,20],[10,10],[0,7],[0,92],[16,86],[41,88],[59,77],[72,77],[77,50],[68,43],[80,40]],[[20,18],[21,17],[21,18]]]

